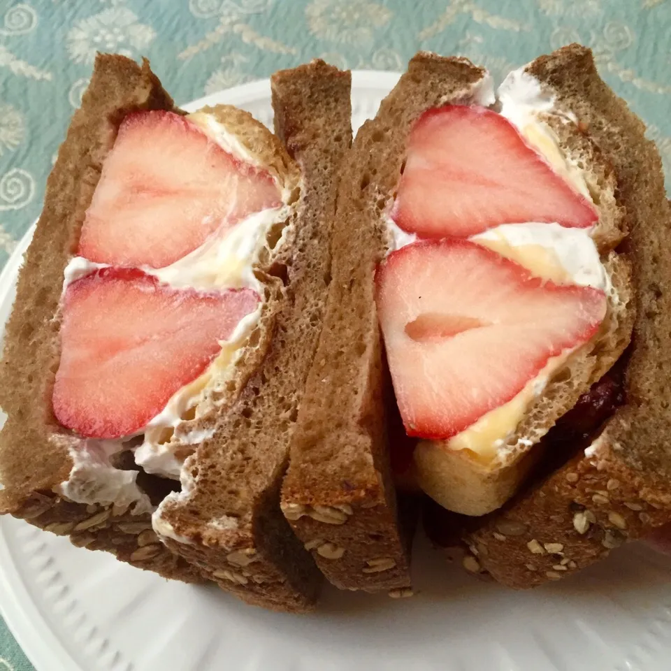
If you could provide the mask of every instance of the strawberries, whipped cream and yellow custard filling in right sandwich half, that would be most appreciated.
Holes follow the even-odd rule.
[[[612,295],[588,178],[544,121],[575,118],[523,70],[498,101],[498,113],[469,101],[414,124],[376,276],[407,433],[483,463],[511,449]]]

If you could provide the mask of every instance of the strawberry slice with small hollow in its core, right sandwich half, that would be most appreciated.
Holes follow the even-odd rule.
[[[606,296],[558,286],[469,240],[407,245],[376,274],[396,401],[410,435],[451,438],[579,347]]]

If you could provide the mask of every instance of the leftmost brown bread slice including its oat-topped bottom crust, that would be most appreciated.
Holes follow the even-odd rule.
[[[120,122],[135,110],[174,110],[145,60],[98,55],[94,73],[49,176],[44,208],[21,268],[15,307],[6,326],[0,366],[0,405],[8,415],[0,433],[0,513],[11,513],[75,545],[112,552],[140,568],[188,582],[198,569],[158,542],[147,484],[143,505],[76,503],[59,493],[73,468],[78,439],[52,413],[59,362],[59,300],[63,271],[77,246],[84,213]],[[137,502],[136,502],[137,503]]]

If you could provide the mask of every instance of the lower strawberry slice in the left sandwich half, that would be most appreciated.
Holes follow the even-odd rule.
[[[87,438],[140,431],[203,373],[240,319],[251,289],[171,289],[140,270],[103,268],[68,287],[53,407]]]

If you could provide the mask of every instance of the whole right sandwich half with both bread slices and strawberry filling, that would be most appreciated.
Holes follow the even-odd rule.
[[[282,491],[331,582],[410,593],[407,494],[468,570],[513,587],[668,523],[669,204],[589,49],[496,94],[468,59],[421,52],[348,165],[339,307]]]

